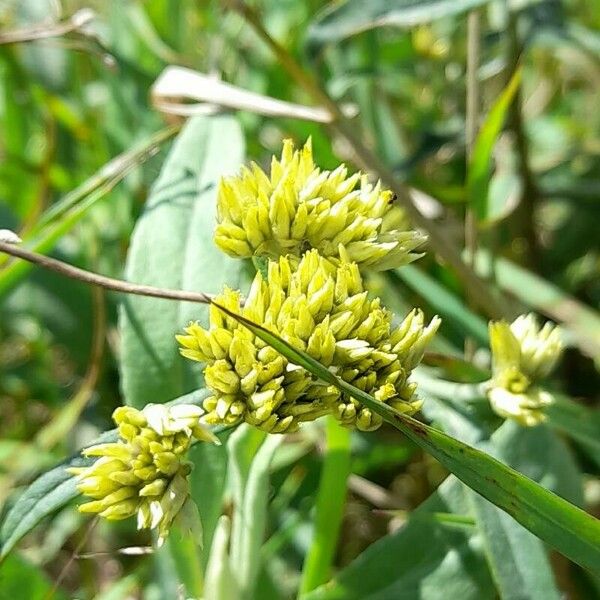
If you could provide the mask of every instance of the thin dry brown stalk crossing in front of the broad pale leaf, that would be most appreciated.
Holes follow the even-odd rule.
[[[113,292],[121,292],[123,294],[134,294],[137,296],[149,296],[152,298],[164,298],[166,300],[180,300],[186,302],[199,302],[201,304],[210,304],[214,297],[211,294],[205,294],[203,292],[187,292],[184,290],[170,290],[165,288],[157,288],[151,285],[138,285],[136,283],[129,283],[128,281],[122,281],[120,279],[113,279],[112,277],[105,277],[104,275],[98,275],[91,271],[79,269],[55,258],[49,258],[43,254],[37,254],[20,248],[12,243],[0,241],[0,252],[10,254],[17,258],[21,258],[30,263],[39,265],[44,269],[49,269],[69,277],[70,279],[76,279],[89,285],[97,285]]]

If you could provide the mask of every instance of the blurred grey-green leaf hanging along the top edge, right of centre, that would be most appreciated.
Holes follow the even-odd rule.
[[[408,29],[464,13],[486,2],[488,0],[348,0],[332,4],[313,21],[307,42],[318,49],[376,27]]]

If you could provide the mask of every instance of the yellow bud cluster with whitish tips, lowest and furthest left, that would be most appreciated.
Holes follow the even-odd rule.
[[[200,424],[198,406],[149,404],[141,411],[119,407],[113,413],[119,441],[91,446],[84,456],[98,457],[89,467],[69,469],[77,489],[92,501],[79,506],[109,520],[137,515],[139,529],[157,529],[158,544],[189,497],[185,461],[193,440],[218,443]]]

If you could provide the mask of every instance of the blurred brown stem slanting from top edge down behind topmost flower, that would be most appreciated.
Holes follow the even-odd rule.
[[[316,80],[306,72],[294,57],[275,39],[263,26],[256,11],[241,0],[224,0],[225,4],[236,10],[252,26],[256,34],[269,46],[284,69],[296,82],[308,92],[317,105],[323,106],[332,115],[331,129],[342,136],[353,148],[360,166],[368,171],[377,173],[384,185],[395,194],[399,204],[404,208],[411,222],[429,234],[429,243],[439,256],[444,259],[461,278],[471,292],[478,306],[490,317],[499,318],[505,313],[505,306],[493,294],[488,286],[462,260],[460,251],[441,225],[422,215],[415,205],[409,190],[398,180],[393,171],[367,148],[359,135],[356,126],[342,114],[338,104],[320,87]]]

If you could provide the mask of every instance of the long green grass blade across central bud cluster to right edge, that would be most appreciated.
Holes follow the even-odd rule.
[[[288,360],[355,398],[429,452],[463,483],[581,566],[598,571],[600,521],[495,458],[402,415],[343,381],[307,353],[264,327],[215,303]]]

